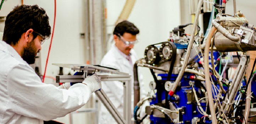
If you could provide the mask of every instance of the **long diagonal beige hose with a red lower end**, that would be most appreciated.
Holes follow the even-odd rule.
[[[181,80],[181,78],[182,78],[182,76],[184,74],[184,71],[185,71],[185,69],[187,67],[190,51],[192,49],[193,41],[194,41],[194,38],[195,38],[195,30],[196,30],[196,27],[197,27],[198,17],[199,17],[199,13],[200,13],[202,4],[203,4],[203,0],[200,0],[198,5],[197,5],[197,9],[196,9],[196,15],[195,15],[194,23],[193,23],[193,29],[192,29],[192,33],[191,33],[191,38],[189,40],[189,45],[188,45],[187,53],[185,55],[186,57],[185,57],[183,65],[182,65],[182,68],[181,68],[181,70],[179,72],[179,75],[178,75],[175,83],[173,84],[172,89],[169,92],[170,96],[172,96],[174,94],[176,88],[178,87],[179,81]]]

